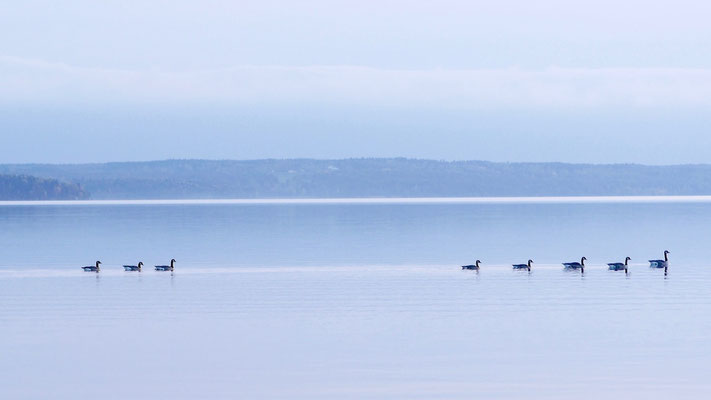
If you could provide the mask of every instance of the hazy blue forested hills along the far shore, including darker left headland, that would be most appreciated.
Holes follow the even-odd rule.
[[[405,158],[0,165],[0,200],[711,195],[711,165]]]

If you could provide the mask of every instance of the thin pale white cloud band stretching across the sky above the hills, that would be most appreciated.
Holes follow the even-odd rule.
[[[0,103],[340,103],[452,108],[711,105],[711,69],[397,70],[238,66],[120,70],[0,57]]]

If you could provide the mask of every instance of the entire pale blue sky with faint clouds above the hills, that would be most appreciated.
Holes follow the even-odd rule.
[[[711,3],[23,1],[0,162],[711,162]]]

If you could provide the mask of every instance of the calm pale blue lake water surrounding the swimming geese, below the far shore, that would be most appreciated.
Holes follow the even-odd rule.
[[[4,205],[0,228],[6,399],[711,394],[707,201]]]

